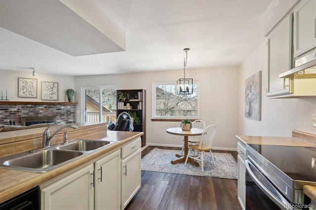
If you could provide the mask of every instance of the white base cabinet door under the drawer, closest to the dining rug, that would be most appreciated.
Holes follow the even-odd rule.
[[[123,159],[121,167],[121,209],[124,209],[141,187],[141,148]]]

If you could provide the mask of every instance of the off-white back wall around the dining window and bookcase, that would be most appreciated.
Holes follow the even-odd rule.
[[[76,76],[75,91],[82,86],[117,85],[118,89],[146,89],[146,140],[149,145],[182,146],[183,137],[166,133],[170,127],[180,126],[180,122],[153,122],[152,88],[153,83],[175,82],[183,76],[183,70],[141,72],[130,74],[112,74],[95,76]],[[200,99],[199,118],[206,125],[215,124],[217,134],[214,147],[236,149],[237,116],[238,116],[238,69],[217,68],[186,70],[187,78],[198,82]],[[78,106],[80,111],[80,105]],[[77,115],[79,117],[79,114]],[[77,118],[77,121],[80,119]]]

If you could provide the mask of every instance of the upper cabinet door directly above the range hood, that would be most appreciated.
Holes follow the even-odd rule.
[[[303,0],[294,8],[294,57],[316,47],[316,0]]]

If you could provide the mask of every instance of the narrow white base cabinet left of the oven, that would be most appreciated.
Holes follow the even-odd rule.
[[[238,181],[237,181],[237,198],[242,210],[246,209],[246,148],[239,142],[237,143],[238,150]]]

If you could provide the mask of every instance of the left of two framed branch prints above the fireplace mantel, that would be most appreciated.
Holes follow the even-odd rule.
[[[18,97],[38,98],[38,79],[18,78]]]

